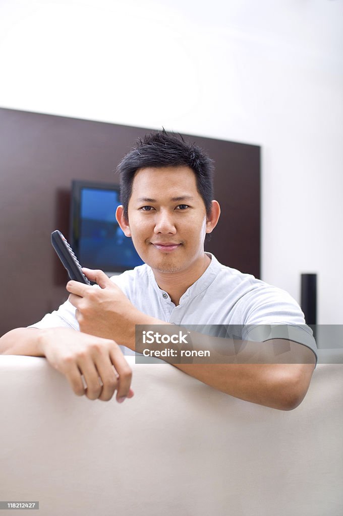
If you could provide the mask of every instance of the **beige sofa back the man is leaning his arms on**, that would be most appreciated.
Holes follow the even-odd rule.
[[[323,353],[340,363],[288,412],[134,357],[134,398],[90,401],[45,359],[2,356],[0,499],[41,516],[341,516],[343,350]]]

